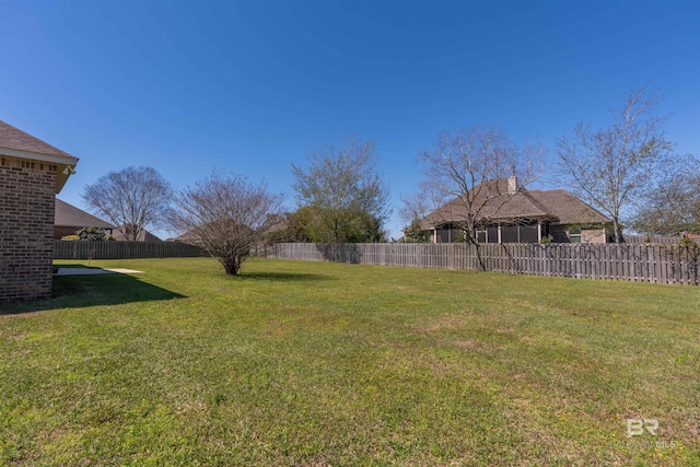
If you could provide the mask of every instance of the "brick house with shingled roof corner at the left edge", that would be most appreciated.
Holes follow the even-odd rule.
[[[77,163],[0,120],[0,302],[50,297],[55,198]]]

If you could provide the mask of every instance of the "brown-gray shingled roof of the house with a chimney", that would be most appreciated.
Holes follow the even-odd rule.
[[[588,224],[611,222],[610,219],[593,209],[564,189],[526,190],[520,188],[515,195],[505,195],[506,189],[491,190],[477,187],[474,206],[482,206],[479,219],[490,222],[503,222],[514,219],[549,219],[559,224]],[[503,194],[503,195],[501,195]],[[486,201],[485,201],[486,200]],[[459,198],[455,198],[420,220],[422,230],[446,222],[462,222],[466,219],[466,209]]]

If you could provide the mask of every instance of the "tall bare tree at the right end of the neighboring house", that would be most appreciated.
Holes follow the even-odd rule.
[[[612,124],[594,129],[579,122],[557,142],[559,166],[573,191],[612,220],[615,241],[622,242],[622,215],[669,163],[673,144],[666,140],[665,118],[657,100],[644,87],[632,90]]]

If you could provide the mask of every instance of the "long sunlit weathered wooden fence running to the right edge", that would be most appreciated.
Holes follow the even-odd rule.
[[[259,247],[258,256],[578,279],[700,283],[700,247],[629,244],[311,244]]]

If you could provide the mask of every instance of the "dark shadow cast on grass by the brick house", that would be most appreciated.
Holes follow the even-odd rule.
[[[63,267],[66,266],[61,265],[61,268]],[[49,300],[0,304],[0,315],[185,297],[185,295],[143,282],[136,276],[119,273],[55,276],[51,295]]]

